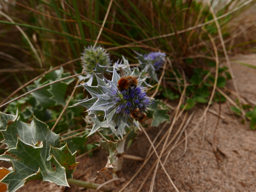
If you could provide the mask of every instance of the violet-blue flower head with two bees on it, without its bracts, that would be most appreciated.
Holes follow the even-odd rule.
[[[142,86],[137,88],[124,90],[122,92],[112,88],[112,93],[109,94],[113,98],[112,103],[115,105],[116,113],[129,116],[132,109],[145,111],[154,99],[148,97],[143,91]]]

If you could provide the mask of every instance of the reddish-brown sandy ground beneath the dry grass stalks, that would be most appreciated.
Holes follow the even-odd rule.
[[[248,63],[256,66],[256,55],[238,56],[240,62]],[[234,58],[235,59],[235,58]],[[232,69],[236,76],[236,82],[241,96],[247,102],[256,102],[256,70],[250,67],[238,64],[232,61]],[[228,88],[233,89],[232,81],[228,82]],[[234,90],[234,89],[233,89]],[[231,96],[231,95],[230,95]],[[232,96],[231,96],[232,97]],[[235,97],[232,97],[233,99]],[[251,103],[252,104],[252,103]],[[254,106],[254,104],[253,104]],[[184,151],[185,142],[172,151],[167,160],[165,168],[180,192],[190,191],[207,191],[207,192],[243,192],[256,191],[256,131],[249,128],[249,121],[247,126],[240,123],[240,117],[232,115],[229,110],[230,106],[226,103],[221,104],[221,115],[224,119],[220,119],[219,126],[216,132],[218,149],[223,152],[217,152],[220,159],[220,166],[218,168],[216,157],[213,153],[212,145],[206,140],[202,144],[203,135],[203,121],[200,126],[188,137],[188,147],[186,154],[177,161],[177,158]],[[219,112],[219,104],[213,104],[210,109]],[[194,109],[193,109],[194,110]],[[192,111],[188,112],[188,115]],[[196,113],[187,127],[187,133],[195,127],[196,123],[203,114],[204,106],[198,106]],[[212,142],[213,132],[218,120],[218,116],[207,112],[205,139]],[[173,129],[173,134],[178,129],[181,120],[179,120]],[[165,128],[164,133],[167,131]],[[158,133],[159,128],[148,128],[147,132],[151,140],[154,139]],[[164,135],[162,133],[160,137]],[[181,139],[184,138],[184,134]],[[159,142],[157,140],[156,142]],[[202,147],[201,147],[202,145]],[[145,134],[140,134],[138,138],[132,143],[127,150],[127,154],[145,157],[150,143]],[[160,149],[162,147],[160,146]],[[160,150],[157,150],[160,154]],[[74,173],[74,179],[84,181],[91,181],[95,183],[103,183],[111,179],[111,171],[105,171],[97,174],[100,168],[104,167],[107,162],[108,153],[104,150],[94,152],[92,158],[84,156],[80,158],[80,164]],[[125,192],[137,191],[141,182],[144,180],[148,171],[156,161],[156,155],[153,155],[149,162],[144,166],[138,176],[132,181]],[[164,161],[164,159],[162,159]],[[110,183],[109,187],[114,188],[114,192],[119,191],[125,183],[127,183],[134,173],[140,168],[142,162],[133,160],[124,160],[123,171],[120,173],[121,182]],[[141,189],[142,192],[149,191],[153,173],[149,176],[145,185]],[[42,183],[41,181],[30,181],[26,186],[18,191],[94,191],[92,189],[83,189],[72,186],[71,188],[61,189],[50,183]],[[172,184],[168,180],[162,169],[158,169],[156,174],[154,191],[167,192],[175,191]]]

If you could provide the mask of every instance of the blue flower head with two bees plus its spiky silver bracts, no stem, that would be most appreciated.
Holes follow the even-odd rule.
[[[91,86],[86,83],[82,84],[91,93],[92,98],[84,100],[79,104],[83,104],[83,106],[88,108],[88,116],[96,116],[98,118],[98,116],[103,115],[99,111],[104,111],[105,114],[104,118],[102,118],[102,124],[97,124],[97,126],[108,125],[112,131],[116,130],[122,137],[126,126],[129,128],[132,126],[139,127],[138,124],[133,124],[131,118],[128,118],[132,110],[136,109],[141,113],[147,111],[148,106],[152,104],[154,99],[147,96],[143,86],[131,87],[128,90],[119,91],[117,88],[119,80],[120,76],[114,67],[111,81],[97,78],[98,86]],[[103,123],[104,121],[106,121],[106,124]],[[94,132],[92,131],[91,133]]]

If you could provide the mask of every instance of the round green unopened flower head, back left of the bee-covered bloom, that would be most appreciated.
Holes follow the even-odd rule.
[[[96,71],[97,65],[99,66],[108,66],[111,64],[109,54],[102,47],[93,48],[89,46],[84,48],[84,52],[82,53],[81,62],[86,72],[92,73],[92,71]]]

